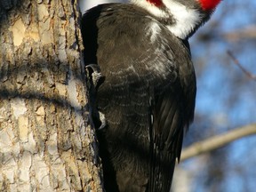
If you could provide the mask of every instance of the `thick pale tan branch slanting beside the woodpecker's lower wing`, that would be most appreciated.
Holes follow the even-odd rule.
[[[190,157],[223,147],[234,140],[238,140],[252,134],[256,134],[256,124],[249,124],[236,128],[235,130],[227,133],[214,136],[210,139],[196,142],[195,144],[182,150],[180,161],[184,161]]]

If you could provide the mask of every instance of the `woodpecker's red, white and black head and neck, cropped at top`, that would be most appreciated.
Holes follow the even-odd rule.
[[[210,19],[221,0],[131,0],[182,39]]]

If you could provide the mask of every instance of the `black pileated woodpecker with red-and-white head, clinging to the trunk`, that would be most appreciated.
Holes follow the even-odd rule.
[[[219,3],[132,0],[84,13],[84,61],[101,73],[94,83],[106,119],[97,131],[106,191],[170,190],[195,109],[188,37]]]

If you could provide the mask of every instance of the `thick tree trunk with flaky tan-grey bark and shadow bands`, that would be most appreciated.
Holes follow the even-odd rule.
[[[0,190],[102,191],[78,5],[0,2]]]

